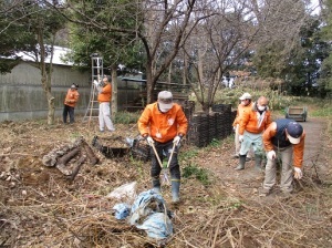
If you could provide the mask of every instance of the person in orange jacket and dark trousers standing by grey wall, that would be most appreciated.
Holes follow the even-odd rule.
[[[63,123],[66,123],[66,117],[68,115],[70,116],[70,123],[74,123],[75,122],[75,116],[74,116],[74,112],[75,112],[75,105],[79,101],[80,94],[77,92],[77,85],[76,84],[72,84],[71,89],[68,90],[65,99],[64,99],[64,107],[63,107],[63,113],[62,113],[62,117],[63,117]]]

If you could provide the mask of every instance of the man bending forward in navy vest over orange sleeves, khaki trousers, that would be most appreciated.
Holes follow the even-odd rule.
[[[276,184],[277,155],[281,157],[282,162],[280,189],[288,195],[293,190],[293,169],[294,178],[302,178],[301,167],[304,153],[304,130],[293,120],[280,118],[264,131],[262,138],[268,163],[263,186],[259,195],[267,196]]]

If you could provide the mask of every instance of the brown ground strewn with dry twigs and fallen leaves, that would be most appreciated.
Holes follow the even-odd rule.
[[[290,198],[278,187],[268,197],[258,196],[263,174],[253,168],[255,162],[245,170],[234,169],[231,136],[201,149],[185,145],[181,168],[208,169],[211,184],[183,178],[181,204],[168,205],[175,234],[166,247],[332,247],[331,137],[324,136],[323,118],[302,124],[304,177],[295,182]],[[81,136],[90,144],[95,135],[135,137],[135,125],[116,125],[115,133],[102,135],[96,123],[3,122],[0,127],[0,247],[160,246],[116,220],[112,208],[117,202],[106,197],[133,180],[137,193],[148,189],[149,162],[110,159],[94,149],[100,164],[85,163],[73,182],[42,164],[53,148]],[[163,185],[163,196],[170,203],[168,185]]]

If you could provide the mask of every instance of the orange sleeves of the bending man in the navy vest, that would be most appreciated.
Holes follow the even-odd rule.
[[[263,135],[262,135],[263,146],[264,146],[266,152],[270,152],[273,149],[273,144],[272,144],[271,140],[272,140],[272,137],[276,136],[276,134],[277,134],[277,124],[276,124],[276,122],[273,122],[263,132]],[[303,131],[300,143],[297,145],[291,144],[293,146],[293,165],[299,168],[302,167],[302,163],[303,163],[304,138],[305,138],[305,133]]]

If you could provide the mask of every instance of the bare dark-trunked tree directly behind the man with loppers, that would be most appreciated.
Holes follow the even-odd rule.
[[[77,4],[81,3],[81,4]],[[104,32],[117,32],[133,34],[134,39],[126,43],[142,42],[145,51],[145,73],[147,80],[147,101],[153,101],[153,90],[163,72],[165,72],[173,59],[184,45],[189,35],[196,0],[136,0],[122,3],[101,2],[101,4],[86,8],[84,1],[66,1],[65,9],[76,13],[66,18],[81,25],[93,27]],[[133,11],[127,12],[126,10]],[[98,14],[107,10],[110,19],[101,19]],[[105,13],[105,12],[103,12]],[[122,16],[120,16],[121,13]],[[125,27],[114,22],[121,18],[124,22],[135,23],[135,27]],[[172,42],[169,42],[172,41]],[[167,48],[167,51],[165,50]],[[115,48],[116,49],[116,48]]]

